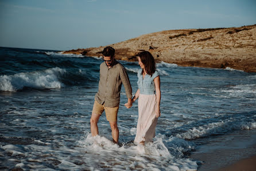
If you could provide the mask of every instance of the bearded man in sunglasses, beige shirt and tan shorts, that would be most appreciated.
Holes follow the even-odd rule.
[[[91,134],[92,137],[99,134],[98,121],[103,111],[106,113],[107,121],[110,123],[113,142],[118,143],[119,130],[117,127],[117,113],[120,102],[120,91],[122,84],[125,87],[128,102],[127,108],[131,103],[131,84],[125,67],[114,59],[115,49],[107,46],[103,52],[104,62],[100,64],[99,90],[95,95],[94,107],[91,115]]]

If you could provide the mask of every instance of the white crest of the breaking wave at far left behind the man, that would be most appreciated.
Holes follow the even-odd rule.
[[[61,88],[64,85],[58,76],[65,73],[65,69],[51,68],[44,71],[21,72],[15,75],[0,76],[0,91],[17,91],[24,87],[30,88]]]

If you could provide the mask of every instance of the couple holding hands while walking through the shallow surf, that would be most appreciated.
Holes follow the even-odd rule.
[[[113,141],[118,143],[117,113],[123,84],[128,99],[125,104],[127,108],[130,108],[139,98],[137,132],[134,142],[142,145],[151,142],[156,133],[157,119],[161,115],[160,76],[156,70],[153,56],[148,51],[138,54],[141,69],[138,71],[138,90],[132,98],[130,80],[126,69],[114,59],[115,49],[107,46],[102,55],[104,62],[100,64],[99,90],[95,95],[90,119],[92,137],[99,134],[97,123],[100,115],[105,111],[107,121],[110,123]]]

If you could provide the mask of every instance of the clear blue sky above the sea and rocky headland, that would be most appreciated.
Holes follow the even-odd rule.
[[[70,50],[163,30],[256,24],[255,0],[0,0],[0,46]]]

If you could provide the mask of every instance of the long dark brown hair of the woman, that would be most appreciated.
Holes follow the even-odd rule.
[[[154,57],[148,51],[139,52],[139,58],[141,59],[142,64],[145,66],[145,71],[148,75],[152,76],[156,71],[156,62],[154,61]],[[143,73],[143,70],[141,74]]]

